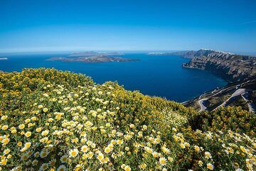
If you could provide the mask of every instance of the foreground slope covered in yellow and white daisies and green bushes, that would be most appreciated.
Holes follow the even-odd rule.
[[[0,73],[0,170],[254,170],[255,115],[53,69]],[[247,133],[247,135],[245,135]]]

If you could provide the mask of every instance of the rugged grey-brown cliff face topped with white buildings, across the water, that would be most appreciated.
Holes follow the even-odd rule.
[[[199,52],[190,62],[184,63],[183,67],[208,70],[229,82],[251,79],[256,77],[256,57],[235,55],[208,50],[207,53]],[[201,54],[201,55],[199,55]]]

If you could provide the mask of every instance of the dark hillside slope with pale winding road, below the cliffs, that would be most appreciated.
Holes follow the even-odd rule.
[[[213,111],[220,106],[241,106],[247,111],[256,111],[256,79],[230,83],[225,87],[213,89],[183,103],[198,111]]]

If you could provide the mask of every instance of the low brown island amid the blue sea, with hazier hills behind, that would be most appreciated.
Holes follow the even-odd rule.
[[[138,61],[135,58],[124,58],[124,57],[110,57],[109,55],[117,55],[122,53],[96,53],[94,51],[85,53],[73,53],[68,57],[50,57],[47,60],[51,61],[62,61],[62,62],[86,62],[86,63],[97,63],[97,62],[131,62]]]

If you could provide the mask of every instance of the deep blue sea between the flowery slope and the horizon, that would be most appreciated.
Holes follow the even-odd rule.
[[[166,97],[183,102],[199,96],[203,92],[223,87],[227,82],[209,72],[181,67],[188,62],[181,56],[146,55],[128,53],[122,57],[139,58],[134,62],[59,62],[47,61],[49,57],[68,54],[4,55],[8,60],[0,60],[0,70],[21,71],[23,68],[54,67],[58,70],[80,72],[102,84],[117,81],[125,89],[139,90],[143,94]]]

